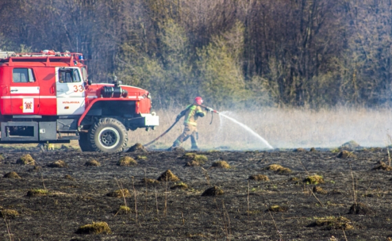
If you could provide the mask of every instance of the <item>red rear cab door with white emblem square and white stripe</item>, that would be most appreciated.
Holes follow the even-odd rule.
[[[36,81],[34,70],[28,67],[14,67],[11,71],[11,114],[38,114],[39,83]]]

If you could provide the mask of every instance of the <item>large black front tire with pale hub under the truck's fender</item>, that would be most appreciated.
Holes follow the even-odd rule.
[[[88,140],[93,151],[122,152],[127,148],[128,132],[120,121],[100,118],[90,127]]]

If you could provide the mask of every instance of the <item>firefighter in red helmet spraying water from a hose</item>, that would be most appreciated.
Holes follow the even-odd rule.
[[[175,121],[179,121],[182,116],[185,116],[184,118],[184,132],[182,132],[181,135],[178,136],[177,140],[174,141],[173,146],[178,147],[183,143],[185,140],[187,140],[190,137],[190,143],[192,144],[191,149],[198,149],[197,147],[197,139],[199,138],[199,134],[197,133],[197,118],[199,117],[204,117],[206,115],[206,112],[202,110],[202,105],[203,99],[202,97],[197,96],[195,98],[195,101],[192,105],[188,105],[186,109],[184,109],[181,113],[178,114],[177,118]],[[206,107],[207,111],[212,111],[212,109]]]

